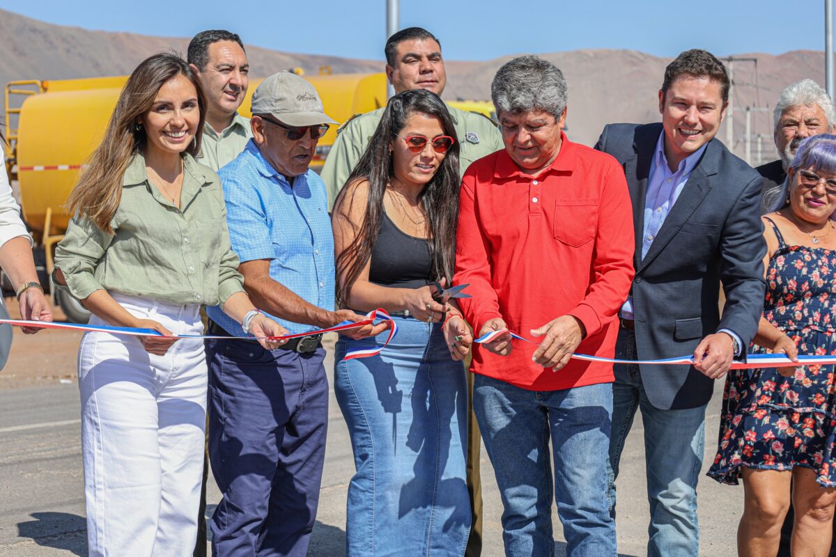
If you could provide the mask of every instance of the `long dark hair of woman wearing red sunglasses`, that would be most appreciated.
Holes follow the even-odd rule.
[[[389,99],[389,104],[375,129],[375,134],[369,142],[357,166],[346,180],[346,186],[339,192],[334,203],[334,211],[348,222],[348,207],[351,201],[346,200],[347,191],[354,191],[348,185],[359,180],[368,180],[369,198],[366,202],[365,215],[360,223],[352,222],[354,227],[354,241],[337,257],[337,276],[340,277],[337,287],[337,303],[342,305],[348,300],[354,281],[369,261],[372,246],[375,246],[377,234],[380,230],[380,220],[383,218],[383,196],[386,185],[390,183],[394,169],[390,157],[390,143],[396,139],[404,129],[406,120],[411,114],[426,114],[441,120],[444,134],[456,137],[456,129],[446,104],[438,96],[424,89],[414,89],[396,94]],[[456,257],[456,220],[459,215],[459,144],[458,140],[447,151],[436,175],[432,177],[418,195],[418,201],[426,215],[429,230],[428,245],[430,247],[431,273],[436,280],[441,277],[450,284],[453,275],[453,264]],[[343,210],[343,205],[346,209]]]

